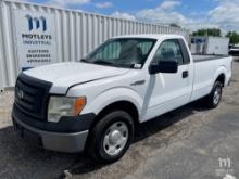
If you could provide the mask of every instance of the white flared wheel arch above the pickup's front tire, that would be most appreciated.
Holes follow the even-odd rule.
[[[143,104],[142,98],[136,91],[124,87],[112,88],[101,92],[95,100],[87,103],[83,113],[95,113],[98,115],[104,107],[118,101],[133,103],[138,112],[140,112]]]

